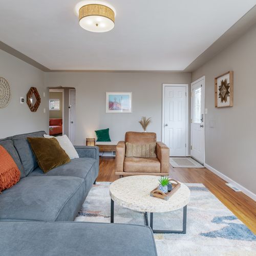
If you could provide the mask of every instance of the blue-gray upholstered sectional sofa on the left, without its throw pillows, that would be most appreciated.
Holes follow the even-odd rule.
[[[21,179],[0,194],[1,255],[157,255],[149,227],[73,222],[98,176],[98,147],[75,146],[79,158],[45,174],[27,137],[0,140]]]

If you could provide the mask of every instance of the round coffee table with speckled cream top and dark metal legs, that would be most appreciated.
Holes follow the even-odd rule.
[[[176,193],[165,201],[150,196],[150,192],[158,186],[157,176],[138,175],[121,178],[110,185],[111,223],[114,223],[114,202],[125,208],[144,212],[144,222],[148,226],[147,213],[150,213],[150,226],[154,233],[186,233],[187,204],[190,190],[181,183]],[[183,207],[182,230],[153,229],[153,213],[168,212]]]

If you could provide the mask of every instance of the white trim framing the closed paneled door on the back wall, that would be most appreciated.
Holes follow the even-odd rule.
[[[163,83],[162,89],[162,142],[164,142],[164,106],[165,106],[165,87],[186,87],[186,156],[188,155],[188,84],[187,83]]]

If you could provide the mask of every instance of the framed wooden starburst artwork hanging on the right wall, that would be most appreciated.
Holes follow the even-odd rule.
[[[215,78],[215,107],[233,106],[233,71]]]

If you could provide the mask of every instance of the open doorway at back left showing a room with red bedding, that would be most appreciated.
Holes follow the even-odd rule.
[[[75,144],[76,90],[72,87],[49,88],[49,134],[67,135]]]

